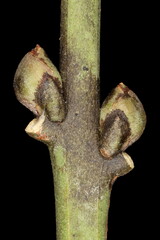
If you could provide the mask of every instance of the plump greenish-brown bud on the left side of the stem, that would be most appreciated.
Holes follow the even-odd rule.
[[[62,79],[39,45],[21,60],[14,77],[14,89],[19,102],[36,116],[45,111],[50,121],[63,121]]]

